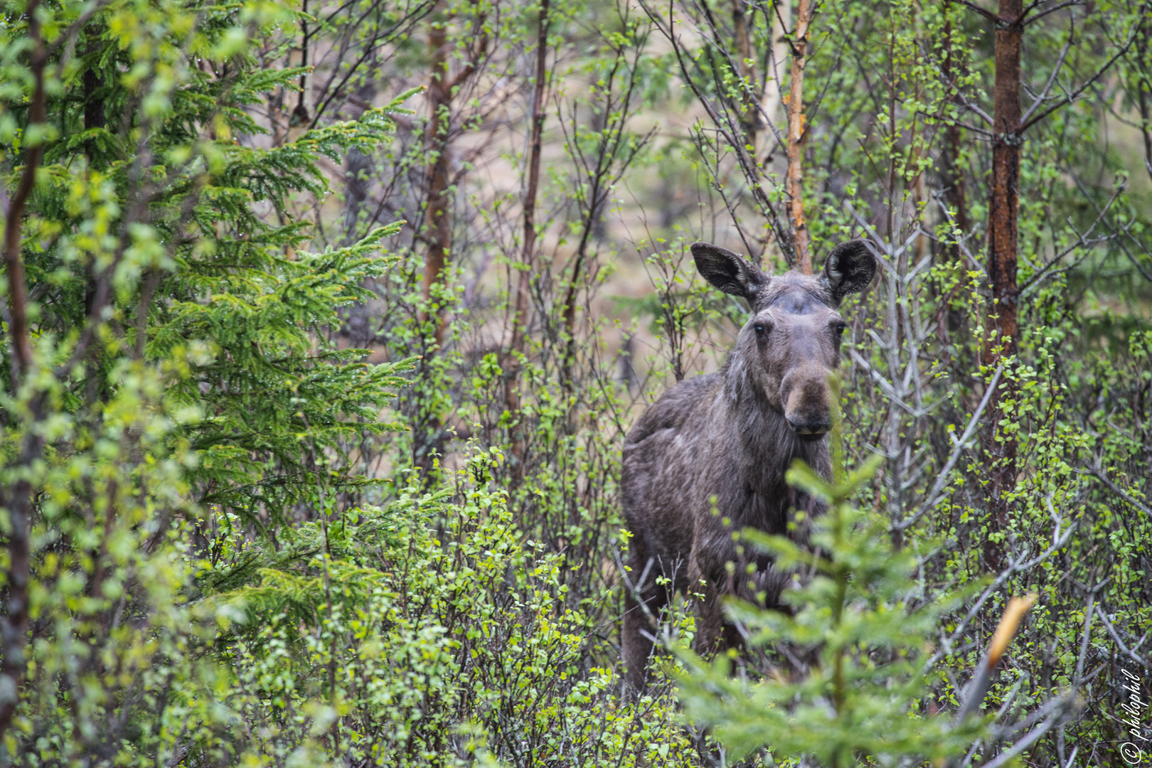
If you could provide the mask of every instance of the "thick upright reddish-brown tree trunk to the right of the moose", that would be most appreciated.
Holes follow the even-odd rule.
[[[1020,178],[1020,54],[1024,28],[1022,0],[1000,0],[1000,22],[996,24],[994,132],[992,144],[992,196],[988,201],[988,282],[992,298],[988,306],[988,330],[995,332],[985,345],[985,364],[998,365],[1003,358],[1016,355],[1018,329],[1016,326],[1016,248],[1017,204]],[[988,440],[985,442],[992,463],[992,526],[1008,526],[1008,501],[1005,494],[1016,486],[1016,441],[1000,433],[999,423],[1005,418],[1001,402],[1014,398],[1010,377],[993,393],[988,401]],[[985,547],[988,564],[999,570],[1003,556],[999,545]]]

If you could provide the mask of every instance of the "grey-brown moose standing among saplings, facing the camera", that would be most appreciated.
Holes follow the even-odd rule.
[[[692,257],[715,288],[748,299],[751,313],[720,372],[666,391],[624,441],[621,495],[632,538],[621,645],[635,690],[644,686],[652,618],[673,590],[696,591],[704,581],[697,624],[703,653],[736,641],[723,622],[723,594],[763,593],[768,607],[779,604],[790,577],[768,557],[738,549],[733,532],[806,537],[805,520],[819,510],[785,473],[799,458],[828,476],[828,379],[840,364],[844,329],[836,307],[876,272],[861,241],[833,249],[819,276],[771,276],[708,243],[695,243]],[[796,509],[804,514],[789,531]],[[661,575],[672,584],[657,584]]]

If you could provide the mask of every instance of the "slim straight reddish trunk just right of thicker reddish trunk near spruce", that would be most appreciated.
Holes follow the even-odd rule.
[[[536,198],[540,189],[540,150],[544,134],[544,85],[547,78],[548,0],[540,2],[539,31],[536,39],[536,83],[532,89],[532,131],[528,150],[528,184],[524,190],[524,248],[516,276],[515,304],[511,314],[511,340],[505,355],[505,405],[516,420],[513,427],[513,478],[523,478],[525,453],[524,425],[520,413],[520,355],[528,334],[528,305],[531,298],[532,265],[536,260]]]

